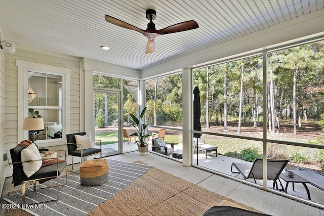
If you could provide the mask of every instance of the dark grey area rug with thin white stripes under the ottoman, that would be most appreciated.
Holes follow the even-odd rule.
[[[21,204],[21,191],[8,195],[4,200],[13,204],[20,204],[20,208],[24,207],[25,211],[33,215],[86,215],[151,168],[151,166],[145,164],[106,160],[109,165],[108,180],[101,186],[82,186],[80,185],[80,176],[69,173],[67,185],[60,186],[59,201],[47,202],[43,205],[28,204],[56,199],[56,188],[40,189],[36,192],[33,192],[32,188],[26,189],[26,205],[24,206]],[[40,186],[53,185],[55,182],[56,179]],[[65,176],[60,177],[60,182],[62,184],[65,182]]]

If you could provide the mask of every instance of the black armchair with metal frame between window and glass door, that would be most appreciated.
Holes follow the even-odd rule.
[[[81,163],[83,162],[83,158],[87,158],[92,155],[96,155],[100,153],[100,158],[102,158],[102,143],[101,140],[94,140],[94,141],[100,141],[100,149],[97,148],[87,148],[84,149],[83,147],[80,148],[80,150],[77,150],[77,144],[75,140],[75,135],[79,136],[85,136],[87,133],[82,132],[82,133],[75,133],[75,134],[67,134],[66,135],[66,141],[67,141],[67,152],[68,155],[71,155],[71,160],[72,160],[72,169],[69,170],[71,172],[76,172],[77,174],[79,172],[73,170],[73,156],[75,157],[80,157],[81,158]],[[91,141],[91,140],[90,140]]]

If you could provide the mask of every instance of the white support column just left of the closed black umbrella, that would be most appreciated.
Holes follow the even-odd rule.
[[[192,164],[192,72],[190,68],[182,69],[182,163]]]

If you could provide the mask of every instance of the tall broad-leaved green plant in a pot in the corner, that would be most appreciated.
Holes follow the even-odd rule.
[[[139,155],[146,155],[148,152],[148,150],[147,150],[148,143],[146,143],[146,138],[149,137],[149,135],[146,133],[146,127],[148,124],[143,123],[143,118],[144,118],[146,109],[147,109],[147,107],[145,107],[142,110],[139,118],[137,118],[132,113],[130,114],[131,117],[133,118],[133,121],[135,122],[135,123],[133,123],[133,126],[136,129],[136,132],[131,134],[131,136],[136,136],[138,138],[138,140],[135,143],[137,143]]]

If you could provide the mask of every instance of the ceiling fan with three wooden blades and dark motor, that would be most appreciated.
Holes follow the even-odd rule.
[[[187,31],[187,30],[191,30],[191,29],[195,29],[195,28],[199,27],[196,21],[190,20],[190,21],[185,21],[185,22],[181,22],[178,24],[174,24],[174,25],[171,25],[169,27],[166,27],[166,28],[163,28],[160,30],[156,30],[155,24],[152,22],[152,20],[154,20],[156,18],[156,11],[153,9],[148,9],[146,11],[146,18],[148,20],[150,20],[150,22],[147,24],[147,29],[142,30],[142,29],[137,28],[131,24],[121,21],[117,18],[111,17],[109,15],[105,15],[105,19],[107,22],[114,24],[114,25],[118,25],[123,28],[128,28],[128,29],[131,29],[134,31],[138,31],[141,34],[143,34],[144,36],[146,36],[148,39],[148,42],[147,42],[145,53],[153,53],[154,52],[154,48],[155,48],[154,39],[158,35],[170,34],[170,33],[175,33],[175,32],[180,32],[180,31]]]

